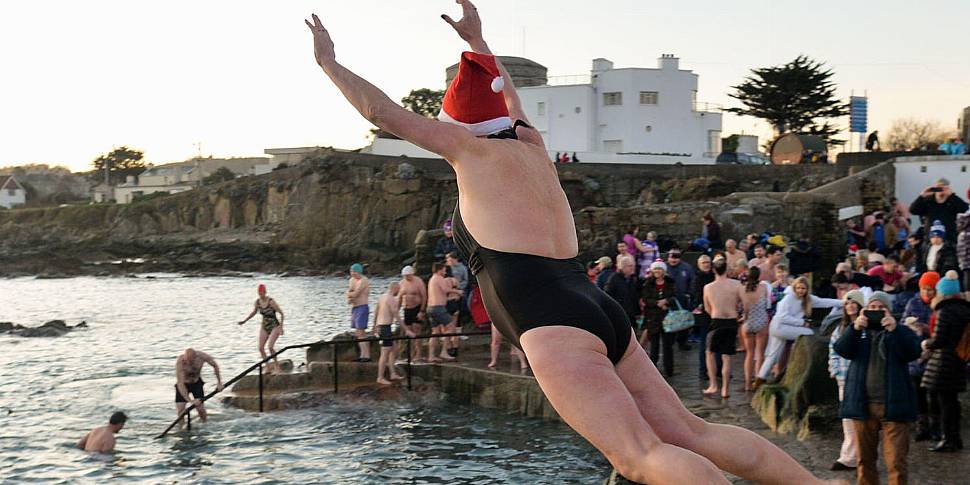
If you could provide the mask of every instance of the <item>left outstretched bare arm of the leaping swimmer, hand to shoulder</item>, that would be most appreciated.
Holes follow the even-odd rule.
[[[338,64],[330,33],[323,27],[320,18],[313,14],[313,22],[305,22],[313,33],[317,64],[367,121],[451,162],[464,158],[469,152],[474,153],[480,146],[467,129],[402,108],[373,84]]]

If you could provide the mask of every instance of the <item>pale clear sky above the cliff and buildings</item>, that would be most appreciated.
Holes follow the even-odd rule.
[[[840,97],[869,96],[869,127],[915,117],[956,127],[970,106],[970,2],[835,0],[480,0],[486,40],[550,76],[591,60],[656,67],[672,53],[700,76],[699,101],[752,68],[824,61]],[[370,128],[313,60],[303,24],[320,15],[338,62],[399,100],[444,87],[464,43],[439,18],[449,0],[4,0],[0,166],[80,171],[113,147],[155,164],[266,148],[358,148]],[[847,119],[843,120],[847,123]],[[723,133],[770,130],[724,115]]]

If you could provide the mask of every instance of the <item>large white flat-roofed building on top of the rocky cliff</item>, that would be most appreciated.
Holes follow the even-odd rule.
[[[713,163],[721,151],[720,109],[697,102],[698,75],[679,64],[666,54],[656,69],[594,59],[589,78],[518,93],[550,152],[577,152],[583,162]]]

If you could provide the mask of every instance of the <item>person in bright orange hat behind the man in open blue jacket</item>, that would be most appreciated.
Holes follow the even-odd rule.
[[[939,273],[927,271],[920,275],[919,294],[906,302],[903,310],[903,321],[916,335],[920,341],[926,340],[930,336],[930,329],[936,324],[936,316],[931,307],[933,299],[936,298],[936,284],[940,281]],[[916,388],[916,436],[915,441],[927,441],[930,439],[939,440],[940,430],[936,421],[930,422],[929,403],[926,388],[920,385],[923,381],[923,372],[926,371],[926,355],[921,355],[909,363],[909,376]]]

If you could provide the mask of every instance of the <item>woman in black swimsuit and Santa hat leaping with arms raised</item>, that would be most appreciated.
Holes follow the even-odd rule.
[[[502,93],[508,122],[497,127],[443,123],[405,110],[336,61],[316,15],[306,24],[317,64],[358,112],[441,155],[455,170],[455,242],[478,278],[492,322],[525,352],[552,406],[630,480],[727,484],[720,467],[760,483],[819,483],[756,433],[691,414],[637,343],[623,309],[589,282],[576,259],[573,213],[542,136],[526,122],[512,78],[482,39],[475,7],[458,3],[464,17],[443,18],[474,51],[463,59],[501,76],[491,90],[478,89],[489,101],[489,93]],[[448,101],[446,94],[445,106]]]

